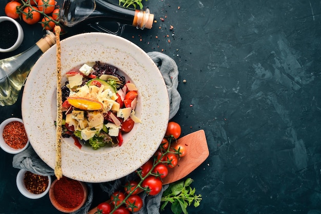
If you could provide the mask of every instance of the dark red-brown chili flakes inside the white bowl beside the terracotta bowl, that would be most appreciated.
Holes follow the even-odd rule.
[[[48,176],[36,175],[31,172],[26,172],[24,177],[24,184],[28,191],[33,194],[43,193],[48,185],[49,179]]]

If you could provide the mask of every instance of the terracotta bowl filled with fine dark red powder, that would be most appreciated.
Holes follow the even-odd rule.
[[[49,199],[59,211],[70,213],[80,209],[87,200],[87,186],[67,177],[54,180],[49,189]]]

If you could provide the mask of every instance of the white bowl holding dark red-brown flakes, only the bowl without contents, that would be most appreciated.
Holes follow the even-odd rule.
[[[39,199],[39,198],[44,197],[50,189],[51,177],[48,176],[48,186],[44,192],[42,192],[41,194],[33,194],[32,192],[30,192],[26,188],[25,183],[24,183],[24,178],[25,178],[26,172],[27,172],[26,170],[20,169],[17,174],[16,183],[17,183],[18,190],[21,192],[22,195],[24,195],[25,197],[27,197],[29,199]]]

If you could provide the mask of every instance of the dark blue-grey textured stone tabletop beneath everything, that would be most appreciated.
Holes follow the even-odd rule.
[[[122,36],[146,52],[163,49],[176,61],[182,102],[173,121],[182,125],[182,135],[205,130],[210,150],[189,175],[203,196],[189,213],[321,213],[321,3],[143,4],[157,23],[151,30],[126,27]],[[39,26],[23,28],[23,45],[1,58],[43,34]],[[78,26],[67,36],[90,30]],[[19,101],[0,107],[1,121],[21,117]],[[58,213],[48,197],[19,194],[12,155],[0,151],[0,161],[0,213]],[[106,199],[97,186],[95,193],[93,205]]]

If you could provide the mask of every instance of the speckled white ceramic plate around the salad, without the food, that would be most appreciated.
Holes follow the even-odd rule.
[[[115,66],[138,88],[136,116],[142,123],[123,135],[122,146],[79,149],[72,138],[62,145],[63,175],[84,182],[107,182],[138,169],[157,150],[169,118],[166,85],[151,58],[132,42],[106,33],[83,33],[61,41],[62,83],[70,69],[94,61]],[[55,164],[56,46],[35,63],[25,84],[22,116],[30,144],[50,167]]]

